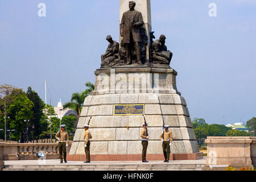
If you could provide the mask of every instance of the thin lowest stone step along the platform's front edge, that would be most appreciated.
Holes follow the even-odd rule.
[[[203,171],[203,167],[4,168],[3,171]]]

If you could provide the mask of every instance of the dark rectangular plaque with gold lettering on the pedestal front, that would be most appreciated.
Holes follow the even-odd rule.
[[[144,105],[114,105],[114,115],[141,115]]]

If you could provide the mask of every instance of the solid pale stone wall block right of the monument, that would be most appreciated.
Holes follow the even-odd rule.
[[[207,137],[205,143],[209,169],[256,166],[256,137]]]

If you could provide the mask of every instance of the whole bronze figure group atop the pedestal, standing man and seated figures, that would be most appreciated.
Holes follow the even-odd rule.
[[[121,65],[144,65],[147,61],[148,37],[142,13],[135,10],[136,3],[129,2],[129,9],[123,13],[120,24],[120,36],[122,37],[120,46],[110,35],[106,40],[109,42],[106,53],[101,56],[101,68],[112,68]],[[166,36],[161,35],[153,42],[154,32],[150,32],[150,61],[152,65],[170,65],[172,52],[167,51],[165,45]]]

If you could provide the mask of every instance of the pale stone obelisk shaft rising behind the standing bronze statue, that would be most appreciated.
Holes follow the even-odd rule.
[[[149,63],[150,54],[150,32],[151,32],[151,5],[150,0],[133,0],[136,2],[135,10],[140,11],[142,13],[143,21],[144,21],[144,28],[146,28],[146,35],[148,37],[148,46],[147,46],[147,62]],[[129,10],[129,2],[130,0],[120,0],[120,18],[119,24],[121,24],[123,13]],[[121,36],[119,37],[121,43]]]

